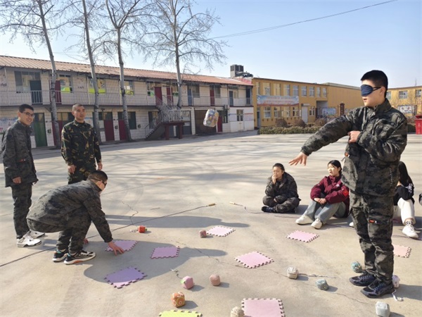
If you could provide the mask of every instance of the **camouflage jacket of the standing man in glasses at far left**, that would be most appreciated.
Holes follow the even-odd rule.
[[[20,177],[23,184],[37,182],[32,159],[32,129],[16,121],[4,132],[1,139],[1,158],[3,159],[6,187],[15,186],[13,178]]]

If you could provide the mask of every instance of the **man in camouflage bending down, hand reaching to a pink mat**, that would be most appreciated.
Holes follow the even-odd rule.
[[[87,180],[51,189],[32,205],[27,216],[31,230],[60,232],[53,262],[65,260],[65,264],[73,264],[94,259],[94,252],[82,249],[91,221],[115,255],[124,252],[113,242],[101,209],[100,194],[107,179],[106,173],[96,170]]]

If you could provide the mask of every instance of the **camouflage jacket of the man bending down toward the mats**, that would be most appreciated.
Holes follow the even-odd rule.
[[[104,242],[110,242],[113,237],[106,214],[101,209],[100,192],[101,189],[91,180],[51,189],[32,204],[27,219],[49,225],[66,225],[72,213],[84,207]]]

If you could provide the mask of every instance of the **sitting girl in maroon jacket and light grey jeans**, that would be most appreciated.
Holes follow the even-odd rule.
[[[311,223],[312,227],[319,229],[333,216],[349,216],[349,189],[341,182],[341,164],[337,160],[329,161],[327,169],[328,176],[312,187],[312,201],[296,220],[298,225]]]

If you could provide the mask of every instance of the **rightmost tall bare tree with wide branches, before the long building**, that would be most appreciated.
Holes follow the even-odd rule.
[[[176,67],[179,100],[181,108],[181,68],[190,70],[198,62],[212,70],[213,63],[222,63],[222,49],[226,42],[208,36],[219,17],[214,11],[193,13],[192,0],[155,0],[156,12],[148,33],[146,58],[154,59],[154,66],[172,65]]]

